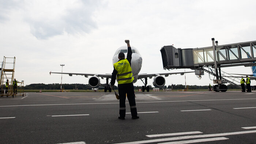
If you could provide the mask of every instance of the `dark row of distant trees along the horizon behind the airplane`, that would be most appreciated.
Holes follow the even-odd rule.
[[[101,84],[99,89],[104,89],[106,84]],[[149,89],[152,90],[154,87],[151,85],[148,85]],[[189,90],[206,90],[208,89],[208,86],[197,86],[197,85],[189,85],[187,86]],[[213,87],[213,86],[212,86]],[[65,90],[73,90],[77,88],[78,90],[91,90],[88,84],[62,84],[62,88]],[[174,90],[182,90],[185,89],[185,85],[182,84],[172,84],[168,86],[164,86],[163,88],[172,88]],[[233,84],[227,85],[228,89],[237,89],[236,86]],[[59,83],[53,83],[53,84],[44,84],[44,83],[37,83],[37,84],[29,84],[24,87],[25,90],[60,90],[60,84]],[[115,89],[117,87],[115,86]],[[134,89],[142,89],[142,86],[134,86]]]

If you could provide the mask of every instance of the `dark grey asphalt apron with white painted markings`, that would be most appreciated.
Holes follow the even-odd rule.
[[[135,94],[136,120],[114,92],[0,97],[0,143],[256,143],[256,91]]]

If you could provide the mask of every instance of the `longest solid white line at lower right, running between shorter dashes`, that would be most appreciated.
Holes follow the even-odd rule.
[[[128,142],[128,143],[120,143],[120,144],[143,144],[143,143],[156,143],[156,142],[159,142],[159,141],[171,141],[171,140],[195,139],[195,138],[201,138],[201,137],[230,136],[230,135],[246,134],[246,133],[256,133],[256,130],[242,131],[242,132],[231,132],[231,133],[203,134],[203,135],[195,135],[195,136],[180,136],[180,137],[171,137],[171,138],[165,138],[165,139],[154,139],[154,140],[132,141],[132,142]]]

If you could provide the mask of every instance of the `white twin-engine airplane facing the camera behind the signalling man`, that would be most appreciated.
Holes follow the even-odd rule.
[[[165,78],[162,75],[167,77],[167,76],[173,75],[173,74],[184,75],[184,73],[191,73],[191,72],[152,73],[152,74],[139,73],[140,69],[142,67],[142,56],[140,56],[138,49],[136,49],[135,47],[131,46],[131,49],[132,49],[131,68],[132,68],[132,74],[134,77],[133,83],[136,83],[138,79],[142,80],[142,82],[144,80],[144,82],[143,82],[144,86],[142,86],[143,92],[145,90],[147,92],[149,91],[149,86],[147,86],[147,78],[152,79],[152,77],[154,77],[153,85],[155,87],[161,88],[161,87],[165,86]],[[112,59],[112,64],[114,64],[118,61],[118,54],[120,52],[127,53],[127,46],[121,46],[120,48],[118,48],[116,50],[116,52],[114,53],[113,59]],[[192,71],[192,72],[194,72],[194,71]],[[104,92],[107,92],[107,90],[109,90],[109,92],[112,91],[110,88],[110,85],[109,85],[109,79],[111,80],[112,74],[61,73],[61,72],[50,71],[50,74],[51,73],[67,74],[69,76],[72,76],[72,75],[82,75],[85,77],[92,76],[89,78],[89,82],[88,82],[89,86],[91,88],[98,88],[101,85],[101,81],[100,81],[99,77],[101,77],[101,79],[106,78],[106,86],[104,87]]]

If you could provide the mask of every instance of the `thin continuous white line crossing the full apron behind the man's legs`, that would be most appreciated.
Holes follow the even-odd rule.
[[[255,99],[256,98],[250,98],[250,99],[209,99],[209,100],[191,100],[191,101],[154,101],[154,102],[136,102],[136,103],[237,101],[237,100],[255,100]],[[57,106],[57,105],[102,105],[102,104],[103,105],[105,105],[105,104],[119,104],[119,102],[112,102],[112,103],[66,103],[66,104],[42,104],[42,105],[11,105],[11,106],[0,106],[0,107],[14,107],[14,106]]]

